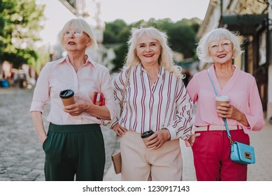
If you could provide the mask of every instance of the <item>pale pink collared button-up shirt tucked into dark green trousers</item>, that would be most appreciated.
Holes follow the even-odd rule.
[[[106,107],[110,111],[110,118],[116,117],[115,100],[107,68],[95,63],[88,56],[87,62],[78,72],[69,62],[68,56],[57,61],[49,62],[41,70],[34,90],[30,111],[41,111],[50,102],[50,112],[47,120],[56,125],[69,124],[106,124],[108,120],[100,120],[83,112],[79,116],[71,116],[63,111],[64,106],[59,92],[71,89],[74,91],[75,101],[93,103],[94,91],[100,91],[106,98]]]

